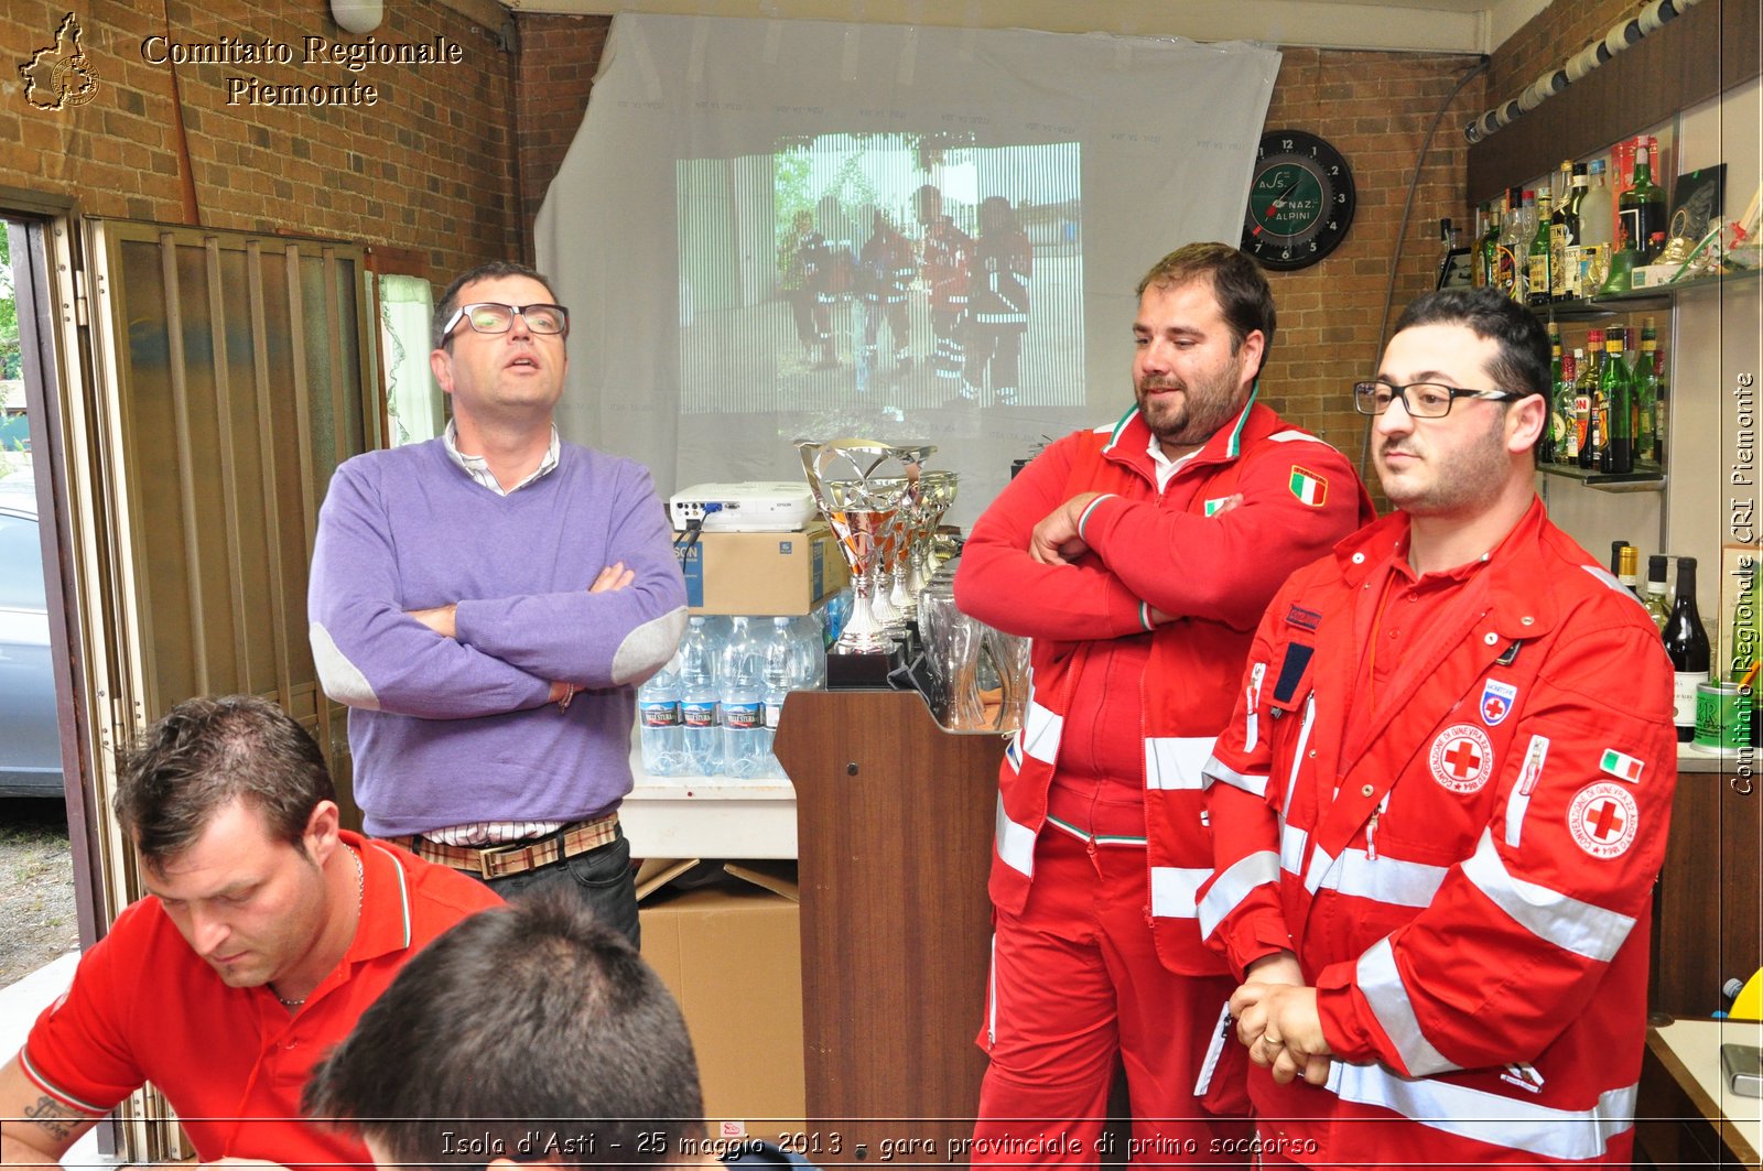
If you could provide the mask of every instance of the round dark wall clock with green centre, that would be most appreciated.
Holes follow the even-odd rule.
[[[1305,268],[1335,250],[1352,226],[1352,171],[1315,134],[1268,131],[1255,155],[1243,250],[1268,268]]]

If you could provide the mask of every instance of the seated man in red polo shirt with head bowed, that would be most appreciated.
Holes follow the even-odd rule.
[[[118,769],[148,898],[0,1069],[0,1157],[53,1164],[153,1083],[203,1162],[363,1162],[300,1120],[312,1065],[404,961],[501,899],[338,829],[324,758],[279,707],[178,704]]]

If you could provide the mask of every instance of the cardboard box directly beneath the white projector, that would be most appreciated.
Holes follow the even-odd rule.
[[[832,529],[702,533],[673,543],[693,614],[807,614],[844,589],[850,570]]]

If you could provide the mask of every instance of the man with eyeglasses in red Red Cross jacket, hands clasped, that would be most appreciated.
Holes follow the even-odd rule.
[[[1400,511],[1275,596],[1206,765],[1268,1162],[1629,1162],[1671,665],[1536,496],[1548,388],[1499,293],[1402,314],[1354,386]]]

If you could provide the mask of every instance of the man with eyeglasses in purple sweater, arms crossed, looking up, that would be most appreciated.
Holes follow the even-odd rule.
[[[367,832],[502,896],[571,887],[636,940],[635,688],[673,654],[686,591],[649,473],[557,436],[554,302],[510,263],[441,296],[428,362],[453,418],[331,478],[312,658],[351,707]]]

